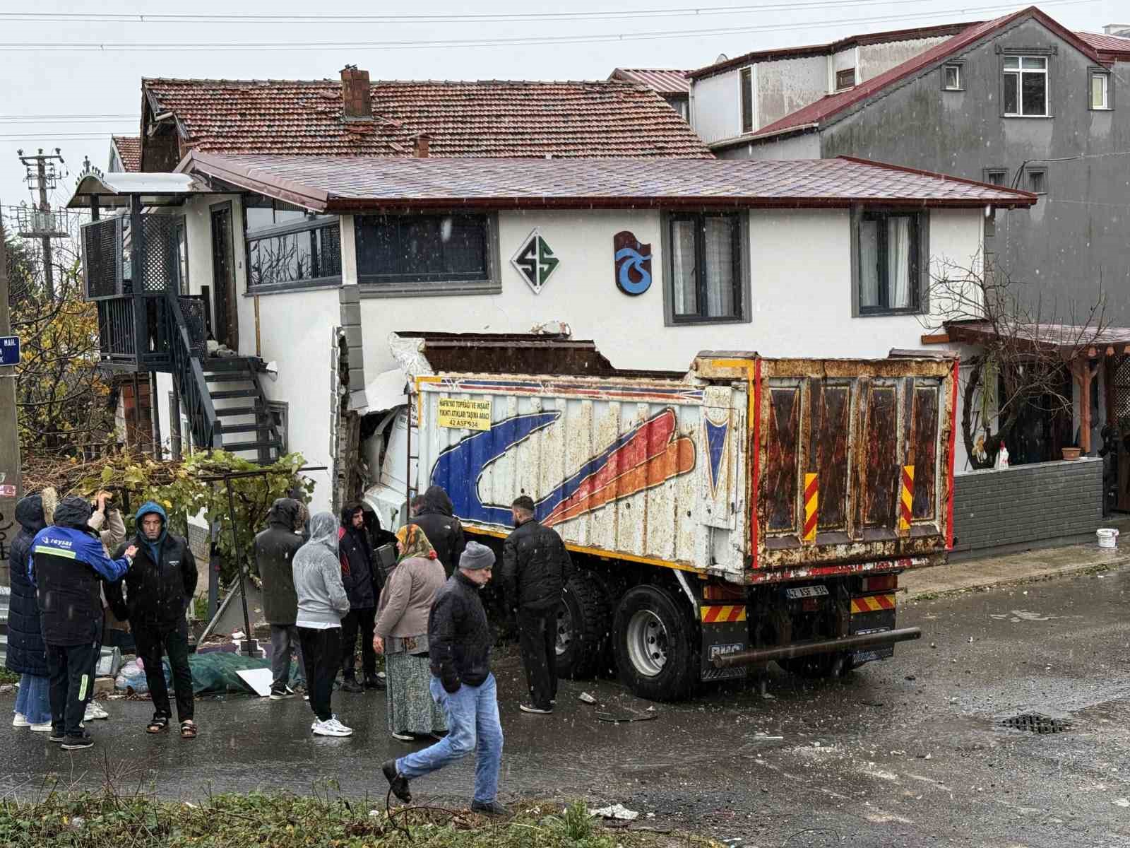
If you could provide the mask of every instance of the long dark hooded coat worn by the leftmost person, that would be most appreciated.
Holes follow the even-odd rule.
[[[8,656],[5,667],[16,674],[46,677],[47,654],[40,630],[40,607],[35,603],[35,587],[27,576],[32,539],[46,527],[43,499],[40,495],[21,497],[16,503],[16,521],[19,531],[8,548],[11,597],[8,602]]]

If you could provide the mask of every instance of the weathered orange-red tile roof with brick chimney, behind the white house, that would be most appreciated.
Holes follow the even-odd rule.
[[[182,149],[438,157],[712,157],[654,92],[620,81],[377,81],[373,121],[346,121],[338,80],[145,79],[149,111],[173,112]]]

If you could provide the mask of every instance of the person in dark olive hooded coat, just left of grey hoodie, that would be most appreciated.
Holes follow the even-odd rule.
[[[294,590],[294,555],[302,547],[302,503],[279,497],[267,513],[267,529],[255,536],[255,570],[263,583],[263,617],[271,625],[271,700],[294,698],[290,654],[298,665],[297,684],[304,683],[298,646],[298,596]]]

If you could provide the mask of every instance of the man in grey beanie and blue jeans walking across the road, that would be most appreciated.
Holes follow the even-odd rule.
[[[490,581],[494,552],[469,542],[455,571],[435,595],[428,615],[428,656],[432,698],[447,715],[447,735],[435,745],[381,770],[393,794],[408,803],[411,778],[423,777],[475,752],[475,797],[471,811],[505,815],[498,803],[498,768],[502,764],[502,725],[498,696],[490,674],[490,630],[479,599],[479,589]]]

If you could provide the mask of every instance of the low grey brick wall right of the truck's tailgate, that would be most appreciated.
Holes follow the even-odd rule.
[[[1102,520],[1101,459],[1038,462],[954,478],[955,559],[963,552],[1094,536]]]

